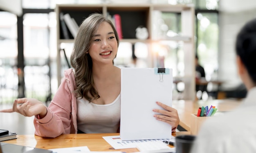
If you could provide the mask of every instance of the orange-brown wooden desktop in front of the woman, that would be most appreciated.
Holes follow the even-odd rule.
[[[190,134],[189,132],[173,132],[173,136]],[[17,139],[3,141],[10,144],[30,146],[40,149],[55,149],[75,146],[88,146],[90,151],[122,151],[126,153],[138,152],[136,148],[113,149],[103,136],[118,136],[119,133],[97,133],[97,134],[62,134],[57,138],[42,138],[35,135],[18,135]],[[172,147],[172,146],[171,146]]]

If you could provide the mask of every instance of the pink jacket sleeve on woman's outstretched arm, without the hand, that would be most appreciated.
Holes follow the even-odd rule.
[[[70,133],[71,129],[71,92],[63,79],[53,100],[47,108],[45,117],[35,116],[34,126],[37,136],[55,138]]]

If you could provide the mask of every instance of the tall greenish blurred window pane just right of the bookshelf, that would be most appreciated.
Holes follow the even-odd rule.
[[[212,78],[218,70],[218,13],[198,13],[199,63],[204,67],[206,79]]]

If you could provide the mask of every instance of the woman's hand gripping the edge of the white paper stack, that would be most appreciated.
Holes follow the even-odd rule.
[[[156,103],[157,103],[157,105],[161,106],[165,110],[153,109],[154,112],[159,113],[159,114],[155,114],[154,117],[157,120],[168,123],[169,125],[172,126],[172,128],[173,128],[172,131],[175,131],[177,126],[180,123],[180,118],[179,118],[177,110],[174,109],[173,107],[167,106],[158,101]]]

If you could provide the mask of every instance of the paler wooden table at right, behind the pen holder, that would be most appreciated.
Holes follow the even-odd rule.
[[[190,131],[191,114],[197,114],[198,108],[202,106],[216,106],[217,112],[231,111],[238,107],[242,101],[233,99],[207,100],[207,101],[189,101],[177,100],[173,101],[173,108],[177,109],[180,117],[180,126]]]

